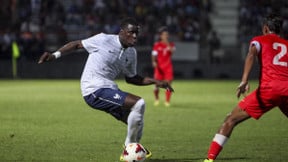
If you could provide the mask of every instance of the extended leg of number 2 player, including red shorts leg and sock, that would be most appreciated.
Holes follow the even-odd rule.
[[[208,151],[208,159],[213,161],[219,155],[225,142],[230,137],[234,127],[249,118],[259,119],[263,114],[273,109],[278,102],[277,93],[272,88],[256,89],[242,99],[238,106],[228,114],[224,123],[216,133]],[[261,92],[261,93],[260,93]],[[286,102],[287,104],[287,102]],[[284,105],[286,105],[284,102]],[[207,160],[208,161],[208,160]]]

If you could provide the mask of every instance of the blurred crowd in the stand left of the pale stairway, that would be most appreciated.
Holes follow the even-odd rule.
[[[35,59],[44,49],[99,32],[117,33],[119,17],[141,22],[139,44],[152,45],[157,27],[174,39],[199,41],[201,10],[209,0],[0,0],[0,58],[9,58],[16,40],[21,54]]]

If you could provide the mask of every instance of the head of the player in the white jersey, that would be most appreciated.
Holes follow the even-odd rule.
[[[128,17],[121,21],[119,39],[124,48],[136,44],[139,28],[140,27],[134,18]]]

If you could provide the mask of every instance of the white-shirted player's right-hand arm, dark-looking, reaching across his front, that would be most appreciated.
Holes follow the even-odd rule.
[[[151,85],[155,84],[157,87],[165,88],[171,92],[174,92],[174,89],[166,81],[156,80],[150,77],[142,77],[140,75],[135,75],[134,77],[125,77],[126,82],[134,85]]]

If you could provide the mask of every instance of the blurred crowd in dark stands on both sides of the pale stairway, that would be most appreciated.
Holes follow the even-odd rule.
[[[283,34],[288,38],[288,1],[240,0],[239,43],[247,44],[259,33],[262,15],[276,11],[283,14]],[[211,0],[0,0],[1,42],[12,35],[20,47],[32,48],[40,41],[41,47],[53,50],[58,44],[82,39],[105,31],[117,33],[121,17],[132,16],[141,22],[139,45],[151,46],[156,29],[167,26],[173,41],[207,41],[211,30],[208,12],[213,12]],[[252,16],[253,15],[253,16]],[[31,35],[31,40],[29,36]],[[41,39],[37,38],[41,35]],[[4,37],[6,37],[4,39]],[[27,38],[28,37],[28,38]],[[19,43],[20,43],[19,42]],[[27,42],[35,43],[28,45]],[[8,49],[7,41],[1,46]],[[24,50],[26,51],[26,50]],[[29,53],[23,54],[30,58]],[[31,56],[32,58],[34,56]]]

